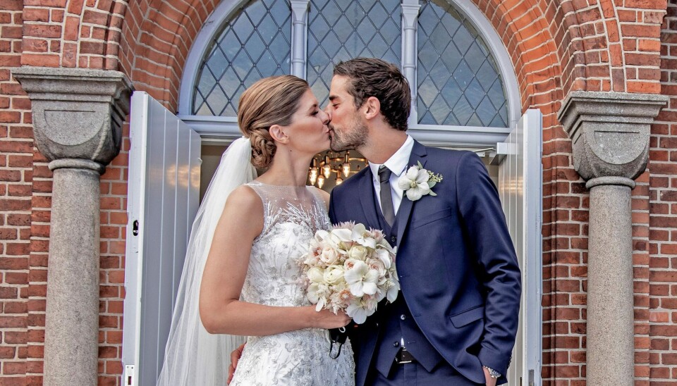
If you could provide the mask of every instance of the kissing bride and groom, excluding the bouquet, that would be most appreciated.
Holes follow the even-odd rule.
[[[158,385],[225,385],[237,345],[228,335],[248,337],[230,385],[507,381],[521,279],[498,192],[472,151],[407,135],[410,106],[401,71],[375,58],[336,65],[324,110],[291,75],[243,93],[244,137],[224,153],[193,225]],[[305,185],[328,148],[369,161],[331,198]],[[298,264],[317,230],[346,221],[396,247],[401,292],[360,325],[315,311]],[[349,340],[332,359],[326,330],[343,327]]]

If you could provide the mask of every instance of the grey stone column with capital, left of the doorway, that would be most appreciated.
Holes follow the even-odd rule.
[[[54,171],[44,385],[97,384],[99,180],[118,154],[130,82],[118,71],[23,67],[39,151]]]

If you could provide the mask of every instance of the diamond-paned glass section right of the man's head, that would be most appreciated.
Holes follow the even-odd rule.
[[[501,73],[475,27],[444,0],[420,3],[418,123],[508,127]]]

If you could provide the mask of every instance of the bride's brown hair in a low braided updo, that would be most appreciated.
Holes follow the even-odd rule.
[[[308,83],[293,75],[264,77],[243,92],[238,107],[240,131],[252,142],[252,165],[267,168],[277,146],[268,131],[272,125],[286,126],[298,109]]]

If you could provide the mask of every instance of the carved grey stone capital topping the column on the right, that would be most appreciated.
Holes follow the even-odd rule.
[[[667,101],[657,94],[569,93],[557,118],[571,138],[578,174],[585,180],[634,180],[642,174],[649,159],[650,126]]]

